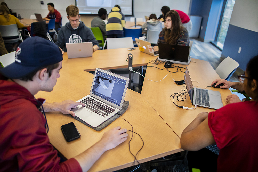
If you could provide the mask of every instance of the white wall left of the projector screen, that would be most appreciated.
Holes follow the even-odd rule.
[[[69,21],[66,17],[66,7],[75,5],[75,0],[44,0],[44,5],[41,5],[39,0],[5,0],[4,2],[17,13],[17,16],[20,14],[22,18],[30,18],[30,15],[34,13],[40,13],[42,18],[46,17],[49,13],[47,3],[52,2],[63,17],[62,25]]]

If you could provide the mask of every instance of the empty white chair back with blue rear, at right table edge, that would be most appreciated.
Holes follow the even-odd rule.
[[[218,65],[215,71],[220,76],[220,78],[229,80],[229,78],[237,70],[238,66],[238,62],[230,57],[227,57]]]

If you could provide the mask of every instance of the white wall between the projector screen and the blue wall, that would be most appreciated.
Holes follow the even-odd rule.
[[[163,6],[168,6],[170,9],[181,10],[188,14],[190,0],[134,0],[134,16],[142,17],[149,16],[154,13],[157,18],[162,14],[160,9]]]

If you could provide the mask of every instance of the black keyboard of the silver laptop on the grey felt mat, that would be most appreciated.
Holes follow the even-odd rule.
[[[99,116],[102,116],[103,118],[105,118],[110,113],[115,111],[115,109],[110,108],[109,106],[107,106],[103,103],[100,103],[99,101],[96,101],[96,100],[92,99],[91,97],[87,97],[86,99],[84,99],[80,102],[85,104],[86,108],[88,108],[91,111],[99,114]]]

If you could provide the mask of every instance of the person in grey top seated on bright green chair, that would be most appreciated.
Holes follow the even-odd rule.
[[[100,28],[104,41],[106,36],[106,24],[103,20],[106,20],[106,18],[107,18],[107,10],[104,8],[101,8],[99,9],[98,16],[94,17],[91,21],[92,28],[95,28],[95,27]]]

